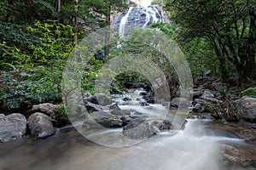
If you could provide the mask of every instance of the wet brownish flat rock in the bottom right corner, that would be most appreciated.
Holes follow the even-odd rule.
[[[250,146],[229,144],[222,150],[226,164],[232,163],[242,167],[256,166],[256,149]]]

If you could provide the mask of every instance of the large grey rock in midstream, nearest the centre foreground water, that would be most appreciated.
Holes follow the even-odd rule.
[[[170,129],[172,124],[166,120],[145,120],[143,117],[137,117],[123,127],[123,133],[131,139],[146,139],[160,130]]]

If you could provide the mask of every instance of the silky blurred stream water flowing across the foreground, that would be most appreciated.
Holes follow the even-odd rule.
[[[120,105],[120,108],[134,108],[134,103]],[[143,108],[142,111],[147,113],[148,110]],[[120,128],[110,131],[121,133]],[[128,147],[96,144],[76,130],[69,129],[47,139],[36,140],[26,136],[0,144],[0,167],[2,170],[248,169],[225,163],[221,154],[225,144],[249,145],[236,133],[226,131],[221,124],[211,120],[187,119],[183,130],[161,132]]]

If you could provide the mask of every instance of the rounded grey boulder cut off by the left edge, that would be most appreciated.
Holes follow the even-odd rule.
[[[26,133],[26,117],[20,113],[0,114],[0,142],[21,139]]]

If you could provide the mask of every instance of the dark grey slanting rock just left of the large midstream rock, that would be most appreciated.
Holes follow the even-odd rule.
[[[105,111],[94,111],[91,117],[102,127],[122,127],[123,122],[117,116],[113,116]]]

